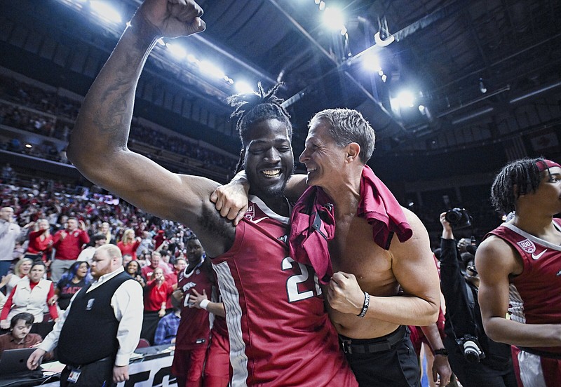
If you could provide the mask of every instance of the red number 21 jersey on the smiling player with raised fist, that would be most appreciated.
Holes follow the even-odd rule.
[[[358,386],[316,273],[288,257],[288,222],[251,196],[234,245],[212,259],[226,307],[232,386]]]

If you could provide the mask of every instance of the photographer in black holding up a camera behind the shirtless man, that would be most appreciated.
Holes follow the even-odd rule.
[[[468,266],[465,273],[460,268],[452,226],[469,226],[469,216],[465,210],[454,208],[440,214],[440,223],[440,286],[446,301],[444,346],[452,371],[464,387],[515,387],[511,347],[495,343],[483,331],[478,273],[474,266]]]

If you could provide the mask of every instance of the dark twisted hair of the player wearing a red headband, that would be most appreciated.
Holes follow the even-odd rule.
[[[549,171],[543,158],[522,158],[506,165],[496,175],[491,186],[491,201],[497,211],[506,214],[514,211],[515,202],[520,196],[536,191],[541,180],[536,163],[543,163]]]

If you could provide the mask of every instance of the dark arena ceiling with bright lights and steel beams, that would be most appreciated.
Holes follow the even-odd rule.
[[[81,46],[76,49],[90,46],[109,55],[140,1],[111,1],[121,15],[116,23],[89,15],[94,2],[1,1],[2,50],[11,50],[21,29],[35,29],[49,39],[72,35]],[[506,158],[558,152],[560,1],[317,2],[201,0],[206,31],[165,41],[193,56],[180,53],[178,59],[158,46],[150,69],[223,115],[238,82],[285,82],[281,96],[295,123],[295,144],[303,142],[316,111],[351,107],[377,130],[377,156],[485,144],[501,144]],[[326,25],[327,8],[339,8],[343,19]],[[90,73],[106,57],[100,55]],[[409,100],[400,102],[404,91]],[[528,149],[521,144],[527,136],[543,147]]]

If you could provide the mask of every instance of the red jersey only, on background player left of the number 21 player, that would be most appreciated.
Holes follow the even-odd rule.
[[[181,308],[180,326],[177,328],[175,348],[190,350],[208,346],[210,320],[208,311],[200,308],[189,308],[189,294],[195,289],[198,293],[212,294],[212,283],[208,280],[203,261],[193,271],[187,273],[185,268],[177,278],[177,288],[184,293]]]

